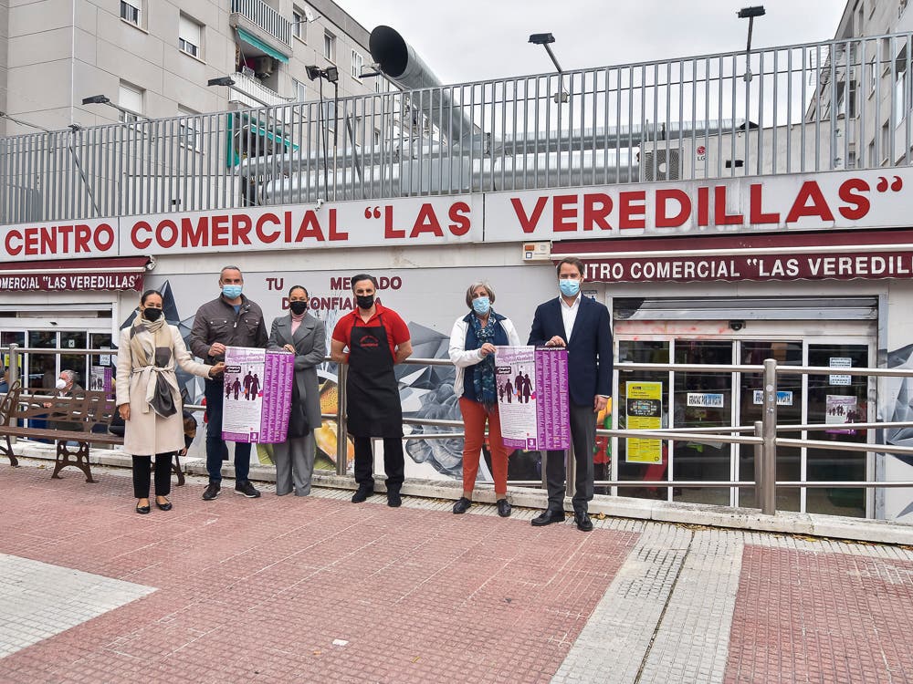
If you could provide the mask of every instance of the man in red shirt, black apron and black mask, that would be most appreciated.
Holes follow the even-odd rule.
[[[355,482],[352,503],[374,492],[372,438],[383,438],[383,471],[387,476],[387,505],[402,503],[403,407],[394,365],[412,354],[409,328],[393,310],[374,301],[377,281],[372,275],[352,276],[358,306],[333,330],[331,357],[349,365],[346,382],[348,431],[355,443]],[[344,352],[349,347],[349,353]]]

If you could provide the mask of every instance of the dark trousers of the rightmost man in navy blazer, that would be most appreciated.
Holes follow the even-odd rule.
[[[586,513],[593,499],[593,447],[596,444],[596,414],[592,406],[571,402],[571,441],[577,466],[574,478],[574,513]],[[549,510],[564,510],[564,451],[548,451],[545,482],[549,488]]]

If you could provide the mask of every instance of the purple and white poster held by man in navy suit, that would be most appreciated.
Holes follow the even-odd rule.
[[[565,450],[570,443],[568,355],[561,347],[498,347],[498,412],[505,446]]]

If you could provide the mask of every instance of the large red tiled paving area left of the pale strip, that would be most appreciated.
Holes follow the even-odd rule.
[[[159,589],[0,659],[3,682],[548,681],[637,538],[201,485],[141,517],[113,473],[0,489],[0,552]]]

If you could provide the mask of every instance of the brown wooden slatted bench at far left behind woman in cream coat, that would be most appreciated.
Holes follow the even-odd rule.
[[[19,465],[13,453],[11,437],[26,439],[55,440],[57,457],[52,478],[60,478],[59,472],[69,465],[76,466],[86,475],[86,482],[96,482],[89,467],[90,444],[123,444],[120,435],[110,434],[108,426],[117,407],[107,392],[82,389],[72,397],[33,397],[22,392],[21,383],[16,380],[0,400],[0,455],[9,459],[13,467]],[[23,427],[25,420],[46,420],[44,428]],[[15,425],[10,425],[15,422]],[[55,423],[70,423],[71,430],[53,427]],[[76,446],[68,442],[77,442]],[[4,443],[5,442],[5,443]],[[184,484],[181,459],[175,454],[172,463],[177,475],[178,486]]]

